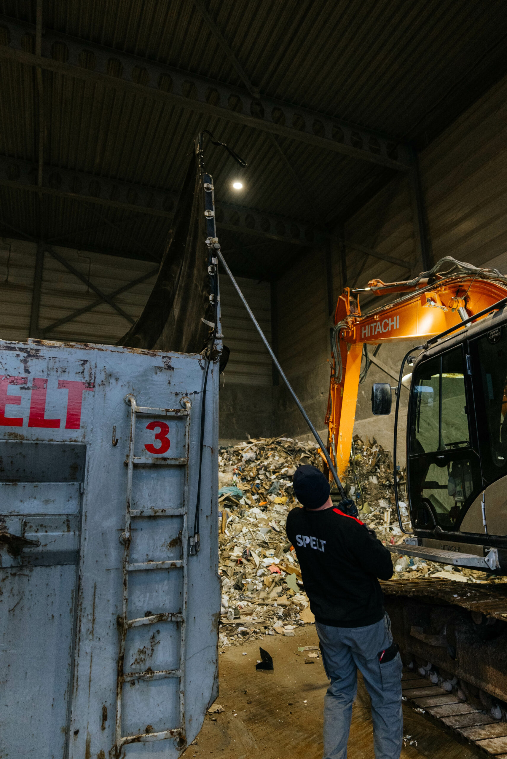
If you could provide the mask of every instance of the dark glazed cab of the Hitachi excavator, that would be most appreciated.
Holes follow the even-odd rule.
[[[506,417],[507,313],[420,354],[408,408],[408,543],[507,572]]]

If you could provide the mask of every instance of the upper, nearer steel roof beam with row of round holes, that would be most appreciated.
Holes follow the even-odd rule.
[[[48,29],[43,34],[41,55],[33,55],[26,52],[24,38],[34,37],[35,27],[5,16],[0,16],[0,24],[8,29],[9,39],[8,45],[0,46],[2,58],[154,97],[389,168],[411,168],[408,146],[384,134],[281,100],[257,99],[236,87]],[[88,55],[83,56],[83,52]],[[82,65],[90,53],[93,69]],[[59,60],[55,60],[57,55]]]

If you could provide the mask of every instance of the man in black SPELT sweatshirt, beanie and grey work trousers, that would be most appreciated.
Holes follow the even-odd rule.
[[[376,759],[402,751],[402,661],[383,606],[391,554],[358,518],[335,506],[315,467],[294,473],[287,536],[296,550],[330,682],[324,699],[323,759],[346,759],[357,669],[370,694]]]

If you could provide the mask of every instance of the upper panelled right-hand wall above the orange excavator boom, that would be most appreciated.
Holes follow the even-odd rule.
[[[433,262],[444,256],[499,266],[507,250],[507,78],[499,82],[420,153]],[[405,180],[406,182],[406,180]],[[345,238],[392,255],[408,237],[411,203],[399,179],[376,195],[345,225]],[[375,245],[376,241],[376,245]],[[354,251],[347,262],[354,269]],[[403,257],[403,256],[402,256]],[[389,264],[370,258],[360,285],[388,281]],[[419,269],[417,269],[419,270]]]

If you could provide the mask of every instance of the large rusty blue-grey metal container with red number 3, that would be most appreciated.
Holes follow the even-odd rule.
[[[216,698],[219,367],[0,341],[0,757],[172,759]]]

